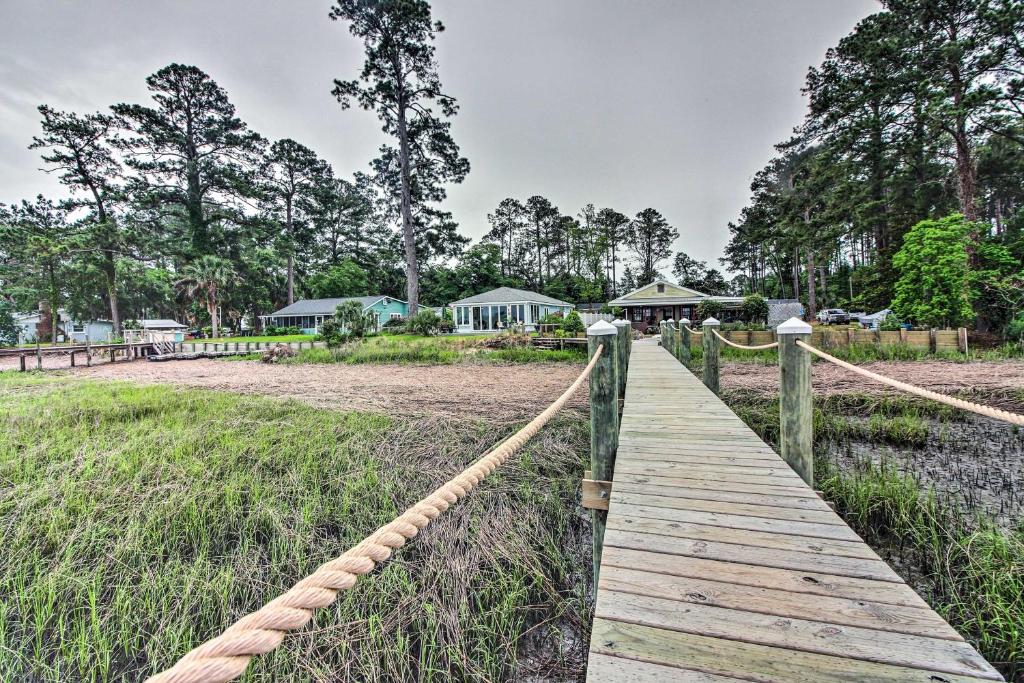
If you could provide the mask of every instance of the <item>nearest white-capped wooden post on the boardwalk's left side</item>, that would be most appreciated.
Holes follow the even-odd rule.
[[[618,400],[615,354],[618,333],[613,325],[598,321],[587,329],[587,346],[593,357],[604,345],[590,374],[590,471],[597,481],[611,481],[618,447]],[[594,528],[594,585],[597,586],[604,547],[607,510],[591,510]]]

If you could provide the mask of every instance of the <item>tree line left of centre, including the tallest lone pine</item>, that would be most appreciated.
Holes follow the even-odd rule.
[[[342,109],[374,111],[392,143],[343,177],[291,138],[268,140],[195,66],[146,79],[150,100],[80,114],[39,108],[45,170],[70,199],[0,206],[0,287],[81,319],[182,315],[216,328],[300,296],[383,293],[419,303],[425,269],[468,240],[438,208],[469,162],[450,134],[423,0],[337,0],[330,17],[366,47]],[[55,334],[55,331],[54,331]]]

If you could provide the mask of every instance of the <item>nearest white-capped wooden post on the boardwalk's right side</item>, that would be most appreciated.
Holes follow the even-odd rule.
[[[797,340],[811,338],[811,326],[791,317],[778,326],[779,445],[782,460],[814,486],[814,401],[811,396],[811,354]]]

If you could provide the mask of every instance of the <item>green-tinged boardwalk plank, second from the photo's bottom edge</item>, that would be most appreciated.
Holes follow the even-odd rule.
[[[992,680],[710,638],[604,618],[594,620],[591,649],[599,654],[773,683],[977,683]]]

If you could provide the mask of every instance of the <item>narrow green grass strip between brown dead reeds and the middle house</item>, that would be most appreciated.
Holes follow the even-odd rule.
[[[585,349],[564,351],[534,347],[480,348],[475,336],[416,337],[393,335],[349,342],[338,348],[303,349],[283,362],[344,362],[454,365],[458,362],[577,362],[587,358]]]

